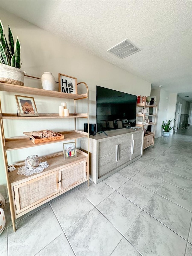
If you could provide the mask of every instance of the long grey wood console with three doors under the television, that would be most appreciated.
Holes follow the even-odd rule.
[[[143,154],[142,129],[118,129],[89,137],[90,179],[95,184],[139,159]],[[81,150],[87,151],[82,138]]]

